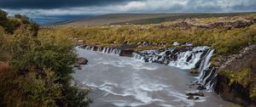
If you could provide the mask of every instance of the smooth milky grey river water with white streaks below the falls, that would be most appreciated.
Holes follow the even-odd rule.
[[[91,107],[177,107],[230,106],[217,94],[206,92],[200,100],[189,100],[187,92],[196,91],[188,84],[196,78],[189,70],[169,65],[144,63],[138,59],[98,53],[77,48],[88,65],[73,74],[75,80],[93,91]]]

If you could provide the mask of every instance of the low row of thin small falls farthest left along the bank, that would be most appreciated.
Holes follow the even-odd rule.
[[[102,47],[96,47],[96,46],[81,46],[80,48],[84,48],[86,50],[90,51],[96,51],[99,53],[109,53],[109,54],[115,54],[120,55],[121,50],[118,48],[102,48]]]

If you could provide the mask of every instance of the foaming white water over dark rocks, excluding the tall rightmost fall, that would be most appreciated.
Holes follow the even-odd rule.
[[[201,54],[207,51],[209,47],[197,47],[188,51],[175,53],[177,59],[165,59],[166,51],[174,51],[174,48],[168,48],[164,52],[157,52],[156,50],[147,50],[141,53],[133,53],[134,59],[145,61],[148,59],[149,62],[160,61],[167,63],[180,69],[192,69],[195,68],[195,64],[201,59]],[[189,58],[190,57],[190,58]],[[159,59],[160,58],[160,59]]]

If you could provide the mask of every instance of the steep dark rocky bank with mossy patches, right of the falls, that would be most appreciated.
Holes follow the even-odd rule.
[[[256,106],[256,44],[219,60],[222,63],[217,64],[220,67],[214,91],[236,104]]]

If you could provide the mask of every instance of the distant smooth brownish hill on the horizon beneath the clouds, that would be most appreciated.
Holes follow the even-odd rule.
[[[189,19],[236,16],[252,13],[221,13],[221,14],[103,14],[88,19],[73,20],[72,22],[58,23],[68,26],[97,26],[97,25],[126,25],[126,24],[158,24],[165,21]]]

